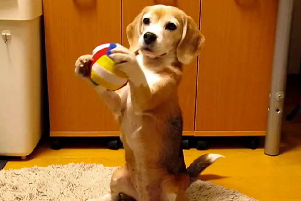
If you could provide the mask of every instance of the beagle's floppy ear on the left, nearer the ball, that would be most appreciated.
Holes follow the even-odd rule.
[[[144,10],[145,9],[143,9],[141,13],[139,13],[136,16],[134,21],[127,26],[127,40],[130,44],[129,49],[133,52],[136,52],[139,49],[138,40],[141,36],[142,17],[144,14]]]

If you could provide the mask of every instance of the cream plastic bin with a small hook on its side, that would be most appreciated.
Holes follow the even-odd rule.
[[[0,0],[0,155],[26,157],[41,138],[42,0]]]

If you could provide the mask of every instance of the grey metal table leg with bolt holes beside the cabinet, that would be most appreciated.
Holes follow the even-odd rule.
[[[293,5],[294,0],[278,0],[270,103],[264,147],[264,153],[271,156],[279,154]]]

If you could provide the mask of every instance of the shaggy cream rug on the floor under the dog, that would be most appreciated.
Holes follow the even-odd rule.
[[[106,194],[117,167],[97,164],[52,165],[0,171],[1,201],[85,201]],[[196,181],[187,189],[190,201],[256,201],[235,190]]]

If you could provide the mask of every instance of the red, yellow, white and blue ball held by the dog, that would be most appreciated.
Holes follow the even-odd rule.
[[[117,47],[116,43],[104,43],[92,52],[90,79],[95,85],[108,90],[118,90],[127,84],[127,76],[116,69],[114,61],[109,57],[110,50]]]

